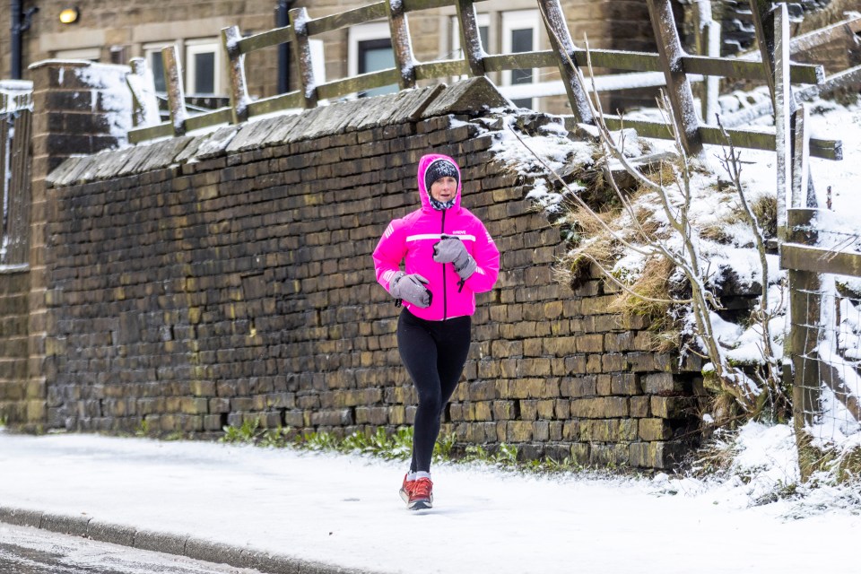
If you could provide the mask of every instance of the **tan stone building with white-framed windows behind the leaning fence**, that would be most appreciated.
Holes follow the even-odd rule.
[[[67,3],[23,0],[20,4],[22,13],[39,9],[31,14],[29,29],[22,32],[24,79],[30,75],[27,65],[45,59],[126,64],[132,57],[146,57],[156,73],[157,89],[163,91],[164,83],[159,74],[160,50],[176,44],[185,71],[186,93],[224,97],[228,78],[220,39],[223,28],[236,25],[243,35],[248,35],[283,25],[287,9],[304,7],[310,17],[318,18],[371,3],[362,0],[215,0],[204,3],[144,0],[129,6],[116,0],[83,0],[75,4],[74,22],[71,23],[60,21],[60,14],[69,5]],[[654,49],[644,2],[562,0],[561,4],[571,36],[578,41],[587,34],[590,45],[596,48]],[[489,54],[548,48],[547,34],[535,0],[493,0],[478,2],[475,7],[484,48]],[[9,13],[0,15],[0,27],[4,30],[10,28],[9,19]],[[409,13],[408,20],[413,49],[419,60],[457,57],[460,42],[454,6]],[[320,65],[317,74],[325,67],[325,78],[318,77],[318,82],[389,67],[394,61],[385,20],[354,25],[348,30],[321,36],[312,41],[311,48],[315,63]],[[10,76],[10,51],[10,42],[0,43],[0,78]],[[267,48],[249,55],[246,68],[251,95],[267,97],[295,90],[297,80],[291,56],[290,48],[281,51]],[[500,86],[558,80],[558,74],[546,69],[495,76],[491,79]],[[285,89],[285,86],[289,88]],[[536,93],[548,90],[555,90],[559,95],[564,93],[561,86],[544,86]],[[517,100],[517,103],[535,109],[549,109],[554,105],[553,100]],[[556,98],[555,105],[561,105],[562,100],[564,98]]]

